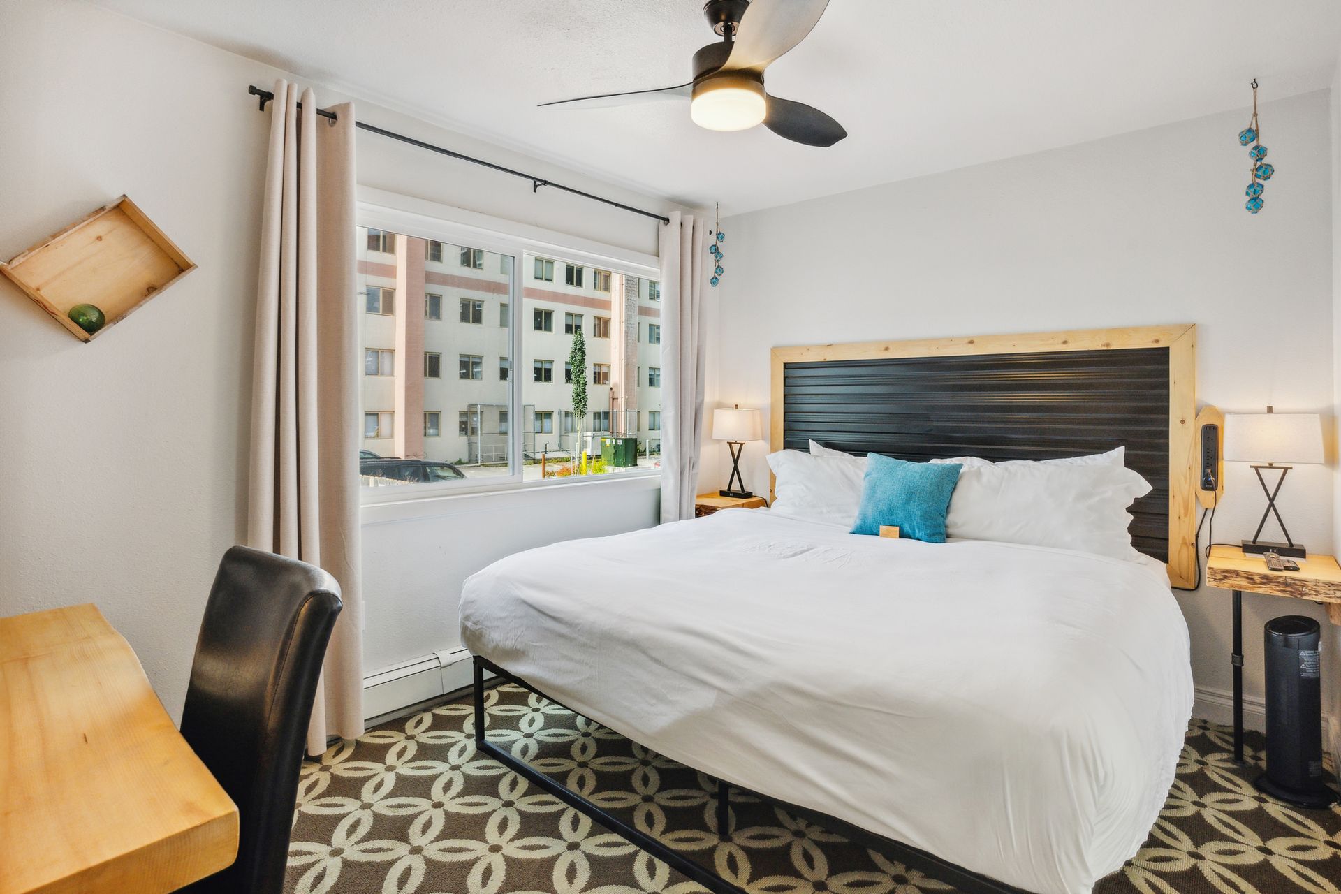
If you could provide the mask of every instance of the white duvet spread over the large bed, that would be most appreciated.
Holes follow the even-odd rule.
[[[508,556],[461,630],[668,757],[1039,894],[1136,854],[1192,710],[1161,566],[759,509]]]

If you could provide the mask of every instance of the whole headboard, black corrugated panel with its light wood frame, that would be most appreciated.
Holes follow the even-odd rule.
[[[1177,327],[1173,334],[1180,330],[1185,343],[1161,327],[1058,332],[1051,340],[988,336],[778,348],[774,406],[782,413],[774,418],[772,449],[805,450],[815,440],[850,453],[913,461],[1000,461],[1125,446],[1126,465],[1153,488],[1132,507],[1133,546],[1168,562],[1173,578],[1175,566],[1181,574],[1195,555],[1195,546],[1185,543],[1195,512],[1188,362],[1193,330]],[[1118,339],[1114,332],[1140,336]],[[1029,350],[1035,344],[1041,350]],[[1179,369],[1188,370],[1187,381],[1177,382]],[[1171,551],[1177,554],[1172,562]]]

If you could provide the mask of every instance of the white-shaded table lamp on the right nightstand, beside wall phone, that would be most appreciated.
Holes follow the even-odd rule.
[[[1266,511],[1251,540],[1243,541],[1244,554],[1275,552],[1294,559],[1307,558],[1307,550],[1297,544],[1285,529],[1281,511],[1275,508],[1275,496],[1281,493],[1285,476],[1291,464],[1322,462],[1322,417],[1317,413],[1231,413],[1224,417],[1224,458],[1231,462],[1251,462],[1257,472],[1262,492],[1266,495]],[[1262,472],[1278,470],[1275,488],[1267,487]],[[1275,515],[1285,543],[1263,541],[1262,528],[1267,516]]]

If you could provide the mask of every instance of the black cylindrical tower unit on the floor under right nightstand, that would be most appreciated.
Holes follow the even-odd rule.
[[[1299,807],[1328,807],[1337,795],[1322,777],[1322,680],[1318,622],[1285,615],[1266,622],[1266,772],[1257,787]]]

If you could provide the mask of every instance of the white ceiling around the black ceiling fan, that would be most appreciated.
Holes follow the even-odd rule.
[[[1336,0],[833,0],[767,74],[848,129],[811,149],[684,103],[535,107],[683,83],[701,0],[94,1],[724,214],[1246,107],[1252,76],[1263,102],[1322,88],[1341,47]]]

